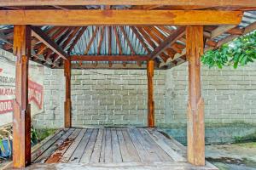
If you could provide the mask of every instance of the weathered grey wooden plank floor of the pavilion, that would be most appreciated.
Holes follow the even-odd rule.
[[[154,128],[70,128],[34,150],[27,169],[217,169],[192,166],[185,150]]]

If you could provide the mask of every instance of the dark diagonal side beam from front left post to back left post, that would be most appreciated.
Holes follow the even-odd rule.
[[[37,37],[39,41],[43,42],[47,47],[53,50],[56,54],[61,56],[62,59],[67,59],[67,54],[45,33],[38,27],[32,27],[32,35]]]

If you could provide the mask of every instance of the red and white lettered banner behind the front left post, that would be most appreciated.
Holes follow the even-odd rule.
[[[15,99],[15,65],[0,61],[0,126],[12,122]],[[28,81],[28,101],[32,115],[42,112],[44,107],[44,68],[30,65]]]

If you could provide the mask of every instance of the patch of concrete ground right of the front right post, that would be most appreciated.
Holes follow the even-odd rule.
[[[207,161],[220,170],[256,169],[256,142],[206,146]]]

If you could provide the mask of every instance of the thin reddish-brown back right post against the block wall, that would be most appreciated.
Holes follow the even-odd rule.
[[[148,127],[154,127],[154,60],[149,60],[147,65],[148,76]]]

